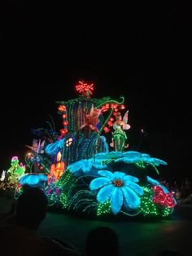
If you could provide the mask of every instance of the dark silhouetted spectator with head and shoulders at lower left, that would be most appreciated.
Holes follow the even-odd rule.
[[[73,256],[75,250],[50,237],[39,236],[37,229],[46,218],[47,198],[40,188],[28,188],[16,201],[14,222],[0,228],[3,256]]]

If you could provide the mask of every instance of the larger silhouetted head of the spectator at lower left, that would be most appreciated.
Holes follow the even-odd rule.
[[[40,188],[28,188],[16,202],[16,223],[21,227],[37,229],[46,217],[47,198]]]

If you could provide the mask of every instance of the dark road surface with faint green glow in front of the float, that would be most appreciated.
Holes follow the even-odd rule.
[[[0,194],[0,214],[9,210],[12,193]],[[159,221],[98,221],[48,211],[40,235],[54,236],[76,245],[85,254],[85,239],[93,227],[107,226],[119,237],[122,256],[158,255],[163,249],[192,253],[192,205],[178,205],[171,217]]]

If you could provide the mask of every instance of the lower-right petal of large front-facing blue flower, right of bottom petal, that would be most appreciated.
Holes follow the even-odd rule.
[[[121,189],[124,193],[124,207],[137,209],[140,205],[140,198],[137,196],[136,192],[133,192],[131,188],[127,187],[123,187]]]

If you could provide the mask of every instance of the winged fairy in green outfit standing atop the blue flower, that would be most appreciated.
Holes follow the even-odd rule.
[[[120,112],[116,113],[116,121],[113,124],[112,142],[110,146],[115,148],[115,151],[123,152],[124,148],[128,148],[129,144],[125,144],[127,135],[124,130],[129,130],[130,126],[128,124],[128,113],[129,110],[124,114],[123,120]]]

